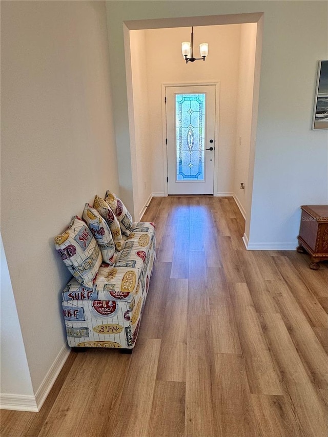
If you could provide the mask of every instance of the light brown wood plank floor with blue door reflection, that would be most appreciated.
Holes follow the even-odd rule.
[[[246,251],[232,198],[153,198],[157,260],[132,356],[71,352],[1,436],[327,437],[328,263]]]

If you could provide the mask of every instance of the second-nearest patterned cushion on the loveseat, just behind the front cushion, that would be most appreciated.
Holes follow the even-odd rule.
[[[86,203],[85,205],[83,219],[89,226],[89,229],[99,246],[104,262],[113,265],[115,244],[111,230],[105,219],[103,219],[98,211],[92,208],[89,203]]]

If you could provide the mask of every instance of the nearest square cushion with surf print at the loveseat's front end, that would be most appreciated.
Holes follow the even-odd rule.
[[[103,257],[86,223],[74,216],[67,230],[55,237],[55,246],[74,278],[92,288]]]

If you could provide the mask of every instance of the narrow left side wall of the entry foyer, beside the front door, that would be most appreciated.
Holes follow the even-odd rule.
[[[148,52],[146,52],[146,31],[133,30],[130,32],[131,73],[133,89],[134,113],[134,147],[133,138],[130,140],[132,161],[134,217],[139,220],[145,212],[144,207],[152,193],[152,155],[153,144],[150,132],[152,131],[149,119],[148,104]],[[137,185],[137,186],[135,186]]]

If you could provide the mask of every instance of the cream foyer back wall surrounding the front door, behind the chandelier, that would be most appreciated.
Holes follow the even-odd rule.
[[[191,28],[151,29],[145,32],[149,89],[149,133],[154,152],[152,191],[164,193],[164,183],[166,183],[164,168],[167,162],[163,162],[161,84],[219,82],[219,116],[216,126],[219,133],[219,142],[216,144],[217,192],[232,193],[240,25],[195,27],[194,55],[199,56],[199,43],[203,41],[209,43],[209,55],[205,61],[195,61],[195,63],[188,64],[183,60],[181,54],[181,42],[190,40]]]

